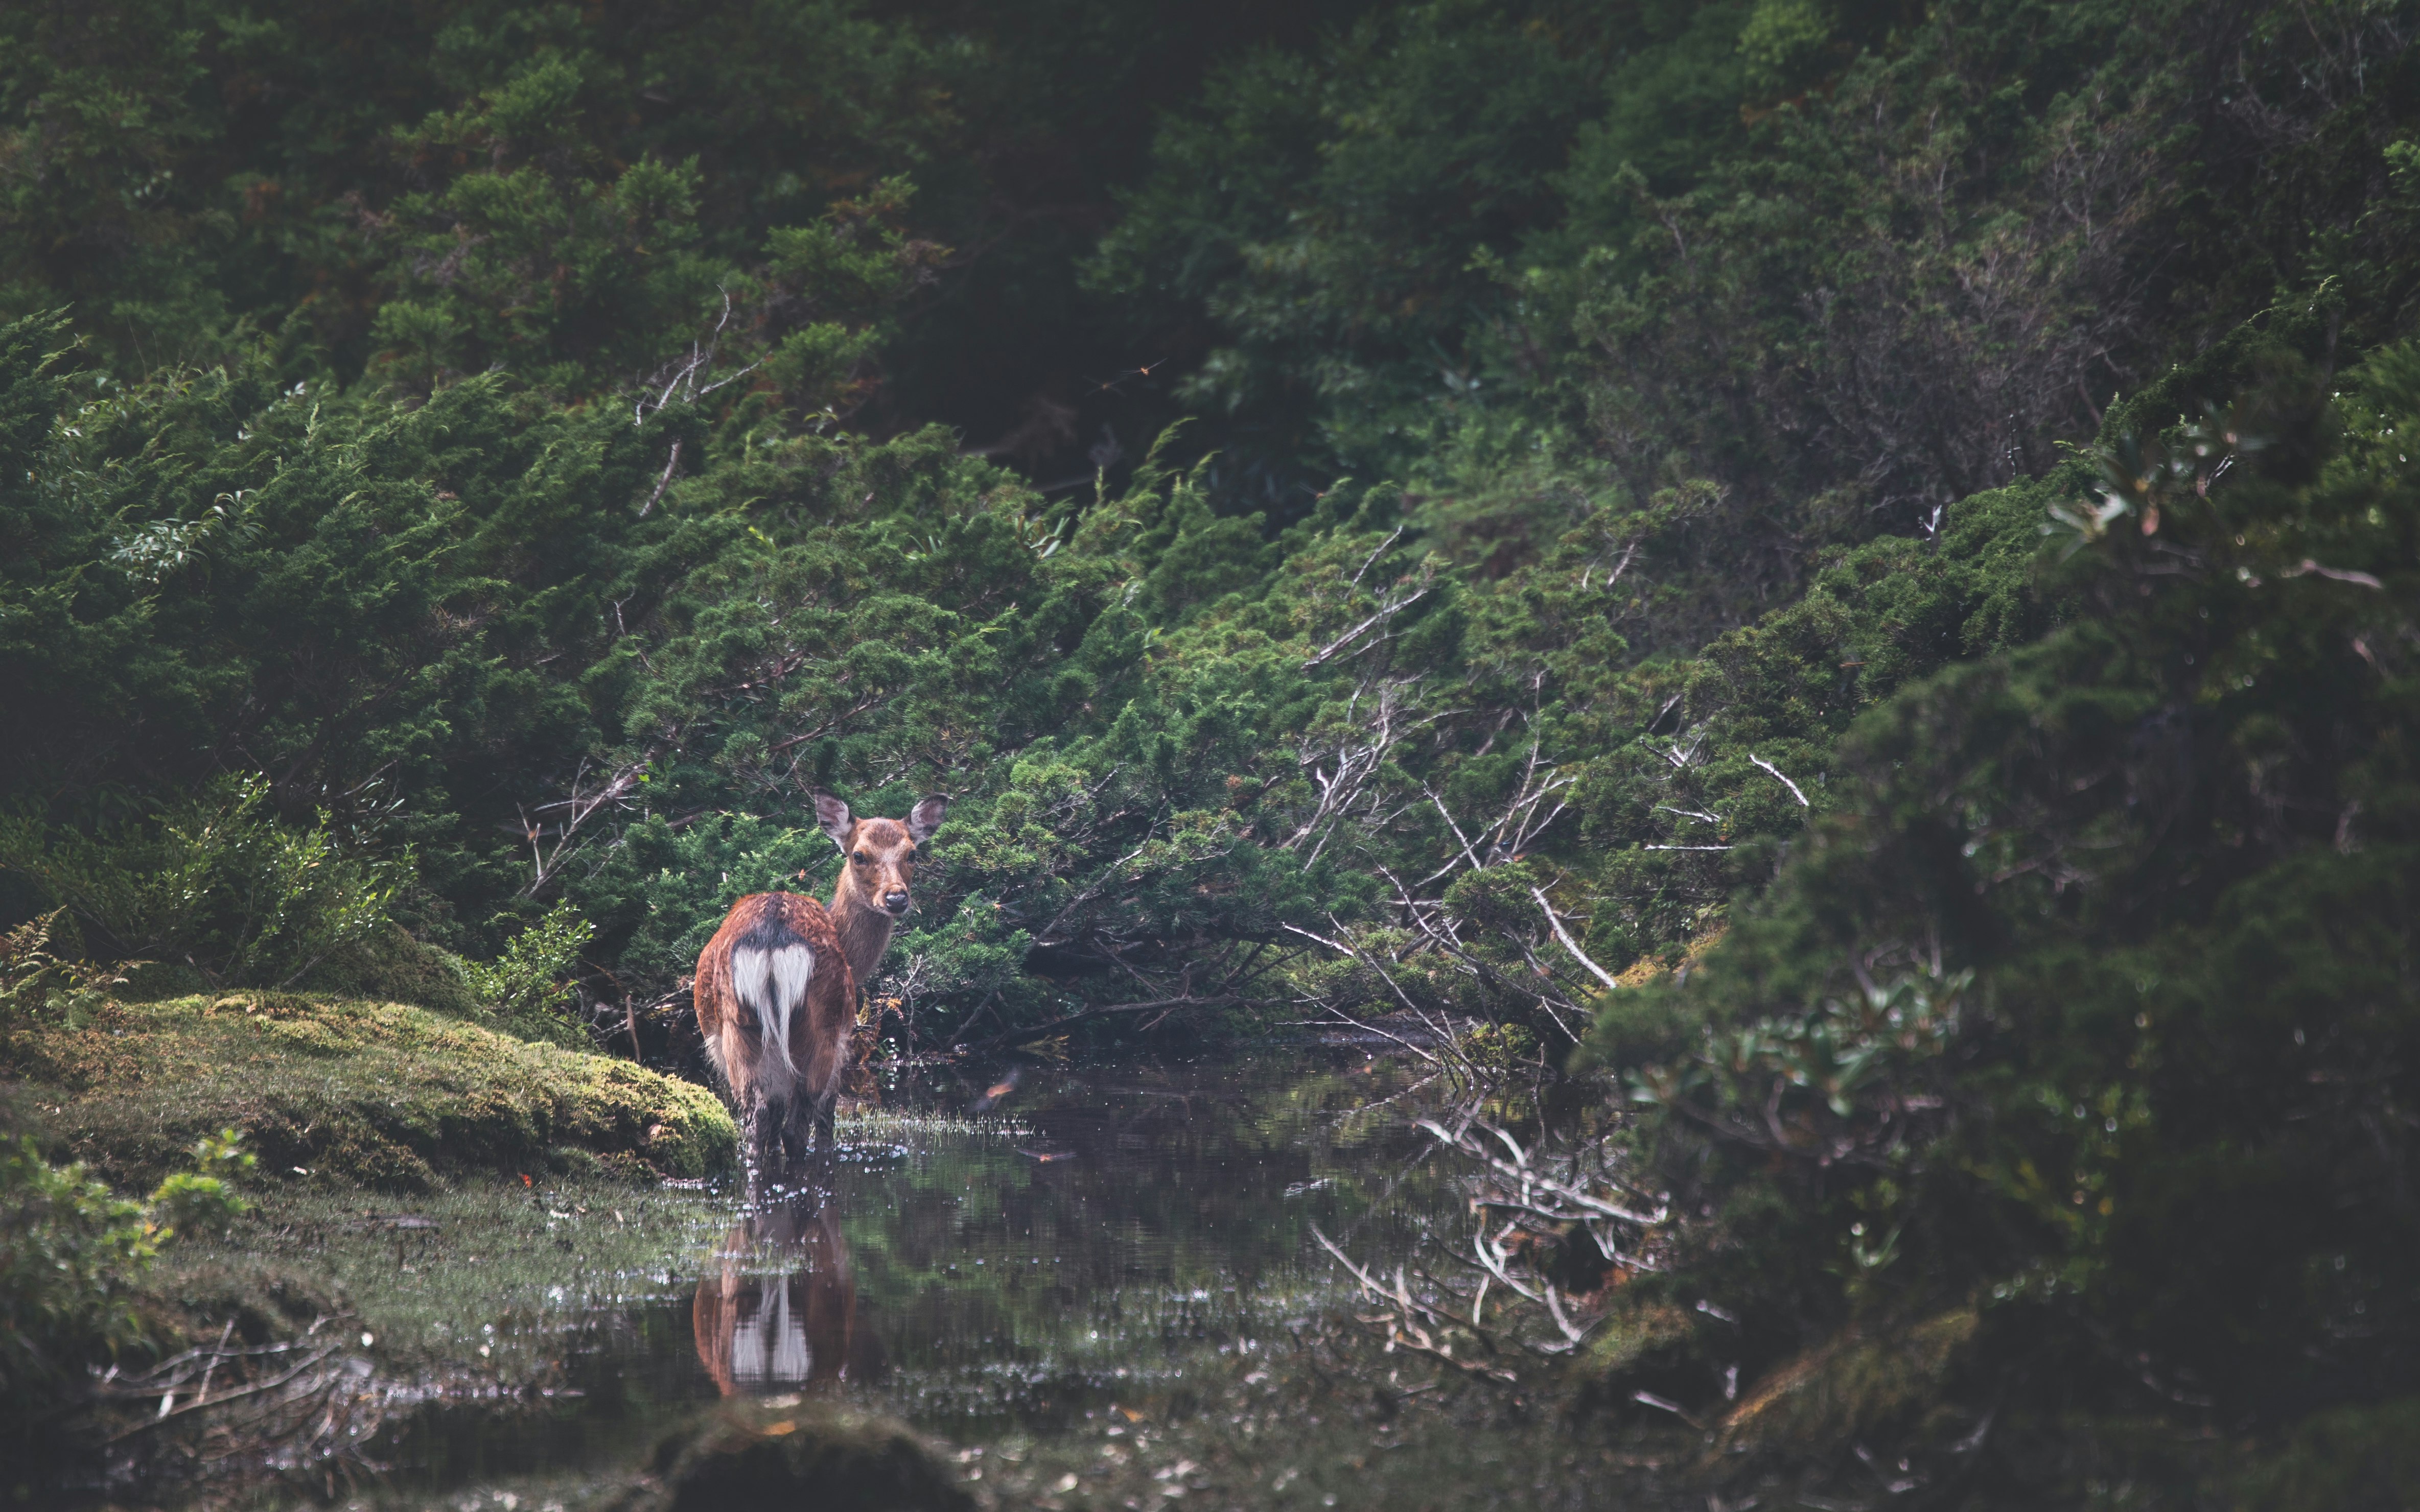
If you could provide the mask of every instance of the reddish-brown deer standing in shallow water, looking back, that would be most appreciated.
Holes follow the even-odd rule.
[[[825,791],[813,803],[842,854],[832,902],[750,893],[697,956],[697,1033],[741,1110],[750,1193],[767,1168],[832,1147],[857,985],[874,980],[891,931],[915,907],[917,852],[949,815],[944,793],[920,798],[905,820],[854,818]]]

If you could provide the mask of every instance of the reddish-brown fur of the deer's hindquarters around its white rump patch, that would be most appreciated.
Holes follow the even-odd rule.
[[[731,948],[765,922],[779,922],[816,953],[806,985],[806,1004],[789,1021],[789,1060],[796,1084],[765,1048],[765,1028],[731,987]],[[830,1137],[832,1096],[849,1064],[849,1031],[857,1026],[857,977],[847,951],[820,902],[796,893],[750,893],[731,905],[724,927],[697,956],[697,1031],[707,1040],[707,1060],[731,1089],[748,1125],[750,1161],[772,1154],[774,1139],[791,1152],[806,1149],[808,1123],[818,1137]],[[765,1110],[772,1110],[767,1118]]]

